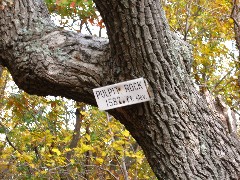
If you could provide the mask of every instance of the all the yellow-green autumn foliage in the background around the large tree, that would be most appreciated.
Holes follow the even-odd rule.
[[[193,47],[191,73],[199,91],[222,95],[239,110],[231,1],[162,2],[172,31]],[[93,35],[101,33],[90,27],[105,28],[91,0],[46,3],[63,28]],[[156,179],[140,146],[109,114],[60,97],[30,96],[7,70],[0,75],[1,179]]]

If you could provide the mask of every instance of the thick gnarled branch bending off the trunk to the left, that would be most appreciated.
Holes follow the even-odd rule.
[[[0,39],[1,64],[29,94],[65,96],[95,105],[92,89],[103,84],[107,72],[108,40],[54,27],[42,0],[28,2],[20,11],[22,3],[18,0],[13,8],[0,11],[0,19],[10,16],[0,22],[0,33],[9,35]],[[9,26],[15,28],[6,32]]]

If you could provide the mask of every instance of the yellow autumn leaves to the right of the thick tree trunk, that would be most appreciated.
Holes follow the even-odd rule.
[[[236,77],[238,57],[230,0],[163,1],[172,30],[193,45],[192,76],[202,92],[222,94],[226,102],[239,108]],[[238,103],[237,103],[238,101]]]

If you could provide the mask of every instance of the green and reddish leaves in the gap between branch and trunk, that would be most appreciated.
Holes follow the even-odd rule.
[[[48,9],[61,27],[82,32],[83,27],[92,34],[89,26],[104,28],[92,0],[46,0]],[[59,15],[61,18],[59,18]],[[101,34],[101,33],[100,33]]]

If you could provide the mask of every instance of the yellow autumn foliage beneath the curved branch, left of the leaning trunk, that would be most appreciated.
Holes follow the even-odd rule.
[[[30,96],[16,89],[12,82],[7,89],[3,94],[0,126],[7,137],[2,134],[0,141],[0,173],[5,178],[97,179],[102,174],[106,179],[121,179],[125,163],[129,178],[154,179],[140,147],[105,112],[87,105],[81,108],[65,99]],[[81,108],[82,124],[80,140],[70,148],[74,108]],[[71,159],[66,159],[68,153],[72,153]]]

